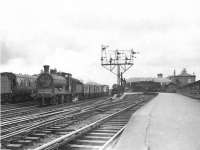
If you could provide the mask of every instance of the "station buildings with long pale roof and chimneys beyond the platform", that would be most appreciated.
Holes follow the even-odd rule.
[[[133,77],[126,81],[126,86],[133,89],[133,91],[163,91],[176,92],[176,89],[181,88],[187,84],[195,82],[196,76],[187,73],[184,68],[180,74],[174,74],[168,77],[163,77],[162,73],[157,74],[157,77]]]

